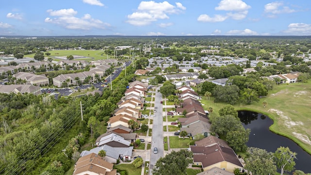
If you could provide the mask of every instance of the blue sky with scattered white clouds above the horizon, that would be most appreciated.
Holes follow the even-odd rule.
[[[311,0],[2,0],[0,35],[311,35]]]

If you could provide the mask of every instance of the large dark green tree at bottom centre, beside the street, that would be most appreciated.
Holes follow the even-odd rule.
[[[156,161],[152,173],[153,175],[187,175],[186,170],[193,161],[192,157],[193,153],[186,149],[172,151]]]

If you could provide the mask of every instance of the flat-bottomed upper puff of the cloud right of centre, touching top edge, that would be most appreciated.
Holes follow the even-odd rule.
[[[222,0],[218,3],[218,7],[215,10],[225,10],[225,11],[244,11],[251,8],[242,0]]]

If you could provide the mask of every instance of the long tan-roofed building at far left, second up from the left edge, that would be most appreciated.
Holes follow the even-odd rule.
[[[36,85],[36,86],[46,86],[49,85],[49,78],[45,74],[36,75],[28,72],[18,72],[13,75],[16,78],[15,82],[20,80],[27,81],[27,84]]]

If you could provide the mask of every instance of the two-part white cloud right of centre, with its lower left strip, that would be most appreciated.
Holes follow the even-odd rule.
[[[206,14],[200,15],[197,20],[202,22],[222,22],[228,18],[234,20],[241,20],[246,18],[248,10],[251,6],[247,5],[242,0],[222,0],[218,3],[218,6],[215,7],[215,10],[225,10],[232,11],[228,12],[225,15],[214,15],[210,17]]]

